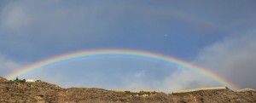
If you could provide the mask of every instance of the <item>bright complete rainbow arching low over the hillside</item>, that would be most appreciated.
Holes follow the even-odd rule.
[[[228,82],[223,77],[219,77],[218,75],[207,71],[199,66],[191,65],[183,60],[178,60],[176,58],[161,55],[161,54],[153,54],[145,51],[137,51],[137,50],[128,50],[128,49],[96,49],[96,50],[85,50],[74,52],[70,54],[62,54],[60,56],[55,56],[53,58],[49,58],[47,60],[42,60],[37,63],[34,63],[30,66],[26,66],[24,68],[19,69],[19,71],[10,73],[7,78],[13,79],[15,77],[19,77],[25,75],[27,72],[35,71],[39,68],[44,68],[46,66],[52,66],[58,63],[63,63],[69,60],[80,60],[86,58],[95,58],[95,57],[104,57],[104,56],[127,56],[127,57],[135,57],[135,58],[143,58],[149,60],[160,60],[161,62],[167,62],[175,66],[179,66],[182,68],[186,68],[192,70],[194,72],[198,72],[206,77],[211,78],[212,80],[222,84],[223,86],[228,87],[229,89],[239,89],[236,85]]]

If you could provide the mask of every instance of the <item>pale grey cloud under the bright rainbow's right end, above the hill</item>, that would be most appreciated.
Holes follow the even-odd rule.
[[[204,87],[221,86],[218,82],[204,75],[186,69],[179,69],[173,72],[172,75],[166,77],[161,83],[162,91],[172,92],[179,89],[195,89]]]

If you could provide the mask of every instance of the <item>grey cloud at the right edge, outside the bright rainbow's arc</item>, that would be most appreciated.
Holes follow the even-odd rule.
[[[228,37],[202,49],[195,60],[241,88],[256,88],[256,37],[255,31]]]

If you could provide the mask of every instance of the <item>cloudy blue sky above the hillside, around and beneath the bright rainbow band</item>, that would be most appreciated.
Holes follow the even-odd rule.
[[[0,1],[0,76],[61,54],[131,49],[184,60],[241,89],[256,89],[254,0]],[[152,60],[75,60],[28,72],[63,88],[177,89],[222,86]]]

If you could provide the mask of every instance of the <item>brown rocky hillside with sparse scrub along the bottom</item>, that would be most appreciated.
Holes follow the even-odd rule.
[[[256,92],[244,89],[200,90],[189,93],[165,94],[161,92],[117,92],[106,89],[62,89],[45,82],[26,83],[0,77],[1,103],[256,103]]]

